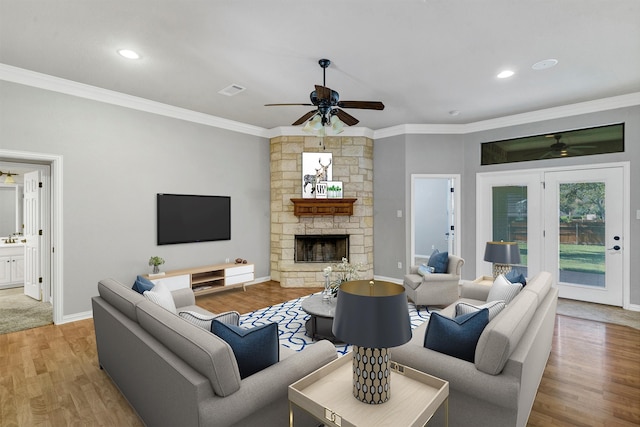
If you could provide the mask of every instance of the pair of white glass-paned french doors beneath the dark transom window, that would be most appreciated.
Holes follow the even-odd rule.
[[[516,241],[525,276],[546,270],[560,297],[623,306],[625,167],[479,174],[477,185],[478,275],[491,271],[487,241]]]

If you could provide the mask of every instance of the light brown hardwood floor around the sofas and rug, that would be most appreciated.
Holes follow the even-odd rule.
[[[200,297],[198,304],[246,313],[315,291],[268,282]],[[98,367],[93,321],[82,320],[0,335],[0,425],[143,424]],[[557,316],[528,426],[638,425],[640,330]]]

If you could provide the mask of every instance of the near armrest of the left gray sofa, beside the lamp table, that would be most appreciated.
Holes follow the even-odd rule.
[[[243,379],[240,390],[232,395],[203,402],[202,425],[232,425],[278,401],[287,401],[290,384],[336,358],[333,344],[326,340],[318,341]]]

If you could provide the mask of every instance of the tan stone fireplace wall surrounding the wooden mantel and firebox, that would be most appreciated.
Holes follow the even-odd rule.
[[[271,140],[271,279],[283,287],[323,286],[330,263],[295,263],[296,234],[349,234],[349,261],[362,263],[361,279],[373,278],[373,140],[366,137],[281,136]],[[293,214],[302,197],[302,153],[331,152],[332,180],[343,197],[357,198],[353,216]]]

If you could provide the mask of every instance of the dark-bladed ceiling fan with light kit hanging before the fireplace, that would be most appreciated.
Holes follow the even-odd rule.
[[[335,128],[336,119],[340,119],[348,126],[358,124],[358,119],[340,108],[384,110],[384,104],[380,101],[340,101],[340,94],[326,86],[326,71],[327,67],[331,65],[331,61],[321,59],[318,64],[322,68],[322,86],[315,85],[316,89],[309,94],[311,104],[265,104],[265,106],[303,105],[317,107],[293,122],[293,126],[298,126],[311,119],[308,124],[312,127],[315,126],[316,129],[320,129],[325,125],[333,125]]]

